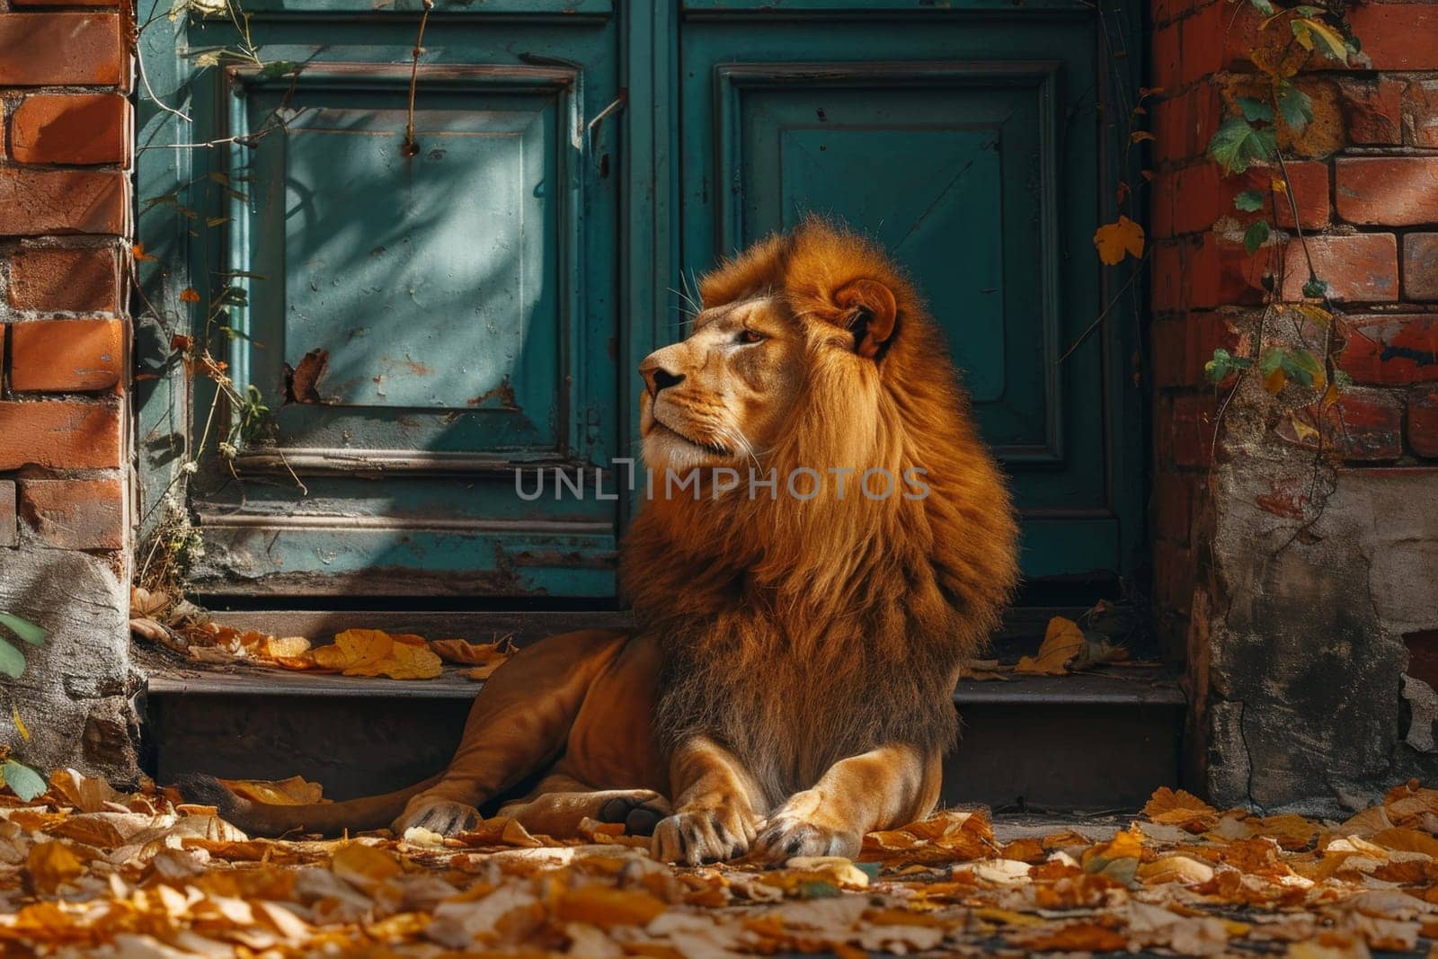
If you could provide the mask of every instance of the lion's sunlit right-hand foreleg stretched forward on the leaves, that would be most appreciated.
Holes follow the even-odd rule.
[[[864,832],[923,818],[939,799],[942,758],[913,746],[883,746],[835,762],[812,788],[795,792],[759,830],[769,860],[858,854]]]

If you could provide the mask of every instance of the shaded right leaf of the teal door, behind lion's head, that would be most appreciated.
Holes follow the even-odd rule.
[[[948,334],[1012,477],[1024,572],[1122,571],[1123,523],[1139,525],[1114,493],[1103,338],[1060,361],[1103,309],[1096,19],[689,6],[686,269],[808,211],[876,237]]]

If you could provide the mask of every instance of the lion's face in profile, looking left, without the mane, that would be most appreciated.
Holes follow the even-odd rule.
[[[687,339],[640,364],[644,462],[676,472],[752,463],[782,434],[805,357],[804,326],[779,298],[705,309]]]

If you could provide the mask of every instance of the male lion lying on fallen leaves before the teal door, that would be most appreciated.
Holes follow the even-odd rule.
[[[814,217],[699,292],[689,336],[640,365],[654,493],[621,551],[633,630],[521,650],[449,768],[407,789],[309,807],[213,779],[187,792],[270,834],[452,835],[480,807],[555,837],[624,822],[686,864],[853,857],[928,815],[955,682],[1018,578],[1007,486],[943,335],[874,243]]]

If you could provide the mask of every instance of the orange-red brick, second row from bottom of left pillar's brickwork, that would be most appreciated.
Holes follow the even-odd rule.
[[[0,401],[0,470],[118,469],[119,404]]]

